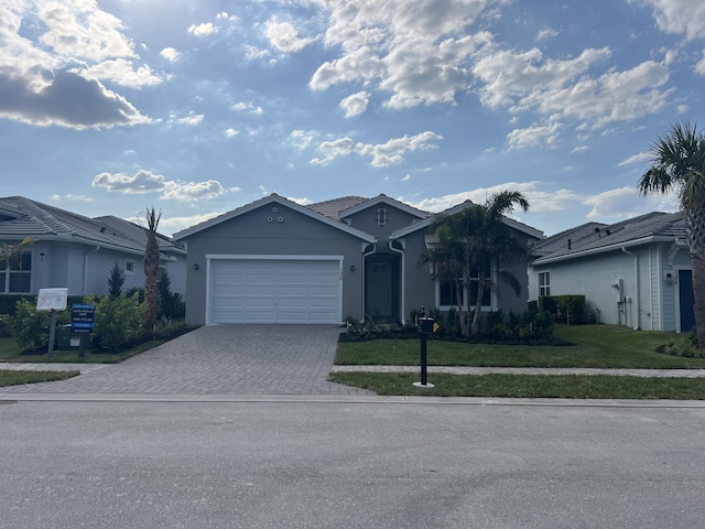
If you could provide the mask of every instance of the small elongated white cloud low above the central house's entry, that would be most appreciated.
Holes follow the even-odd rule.
[[[442,140],[443,137],[431,131],[421,132],[415,136],[404,136],[392,138],[386,143],[355,143],[350,138],[339,138],[333,141],[324,141],[318,145],[318,151],[323,158],[314,158],[311,163],[314,165],[327,165],[339,156],[347,156],[357,153],[360,156],[372,159],[372,168],[387,168],[398,165],[404,161],[403,154],[408,151],[420,149],[433,149],[434,140]]]

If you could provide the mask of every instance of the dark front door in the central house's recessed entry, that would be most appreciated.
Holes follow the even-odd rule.
[[[365,313],[372,317],[398,317],[397,278],[399,259],[391,253],[372,253],[365,263]]]

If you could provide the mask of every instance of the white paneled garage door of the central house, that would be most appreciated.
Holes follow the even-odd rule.
[[[340,323],[339,260],[212,259],[208,323]]]

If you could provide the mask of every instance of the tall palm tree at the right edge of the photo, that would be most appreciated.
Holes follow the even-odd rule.
[[[638,188],[644,196],[677,196],[693,267],[697,346],[705,348],[705,137],[697,125],[684,120],[652,143],[651,154]]]

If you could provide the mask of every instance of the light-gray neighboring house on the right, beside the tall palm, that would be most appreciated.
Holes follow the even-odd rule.
[[[584,294],[601,323],[690,331],[693,279],[680,213],[649,213],[612,225],[590,223],[533,248],[529,299]]]

